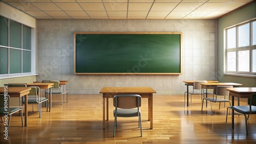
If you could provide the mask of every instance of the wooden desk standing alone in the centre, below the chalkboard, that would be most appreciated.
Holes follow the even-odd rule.
[[[99,93],[103,94],[103,129],[105,129],[105,120],[107,121],[109,120],[109,98],[113,98],[116,94],[139,94],[141,98],[147,98],[148,99],[148,121],[150,121],[150,129],[153,129],[153,93],[156,93],[156,91],[153,88],[151,87],[103,87]],[[105,102],[105,99],[106,99],[106,102]],[[105,105],[106,105],[106,108],[105,108]]]

